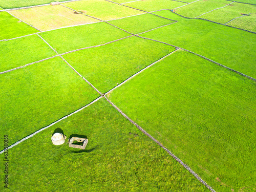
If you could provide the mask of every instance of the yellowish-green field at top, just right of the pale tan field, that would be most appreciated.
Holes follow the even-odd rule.
[[[104,0],[78,1],[65,3],[63,5],[102,20],[121,18],[143,13],[141,11],[127,8]]]

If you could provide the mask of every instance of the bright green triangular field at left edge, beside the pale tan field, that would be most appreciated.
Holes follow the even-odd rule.
[[[31,26],[23,22],[19,22],[19,19],[13,17],[7,12],[0,12],[0,24],[0,40],[39,32]]]

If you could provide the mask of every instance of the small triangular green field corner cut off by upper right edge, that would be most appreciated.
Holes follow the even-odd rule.
[[[256,13],[252,13],[248,16],[237,18],[229,22],[227,25],[243,28],[249,31],[256,32]]]

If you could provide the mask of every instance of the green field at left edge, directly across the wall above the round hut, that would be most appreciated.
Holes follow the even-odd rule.
[[[0,84],[0,134],[9,145],[99,96],[60,57],[2,74]]]

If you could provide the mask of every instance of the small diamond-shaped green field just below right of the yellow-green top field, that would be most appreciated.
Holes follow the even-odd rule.
[[[130,33],[138,34],[173,22],[173,20],[164,19],[156,15],[143,14],[118,20],[112,20],[109,23]]]

